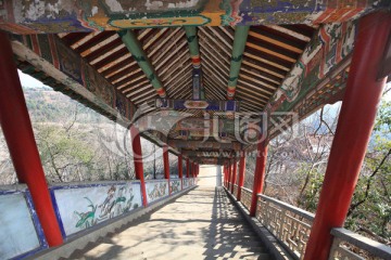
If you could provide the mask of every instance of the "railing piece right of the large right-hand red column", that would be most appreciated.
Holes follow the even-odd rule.
[[[332,229],[329,259],[391,259],[391,248],[345,229]]]

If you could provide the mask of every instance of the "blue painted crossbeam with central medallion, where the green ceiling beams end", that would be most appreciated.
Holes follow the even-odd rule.
[[[165,100],[156,99],[156,108],[162,109],[205,109],[205,110],[224,110],[238,112],[239,101],[187,101],[187,100]]]

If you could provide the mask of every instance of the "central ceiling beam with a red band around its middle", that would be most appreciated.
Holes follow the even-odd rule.
[[[202,80],[201,57],[200,57],[200,44],[197,36],[195,26],[185,26],[186,38],[189,44],[189,51],[191,56],[191,63],[193,66],[192,72],[192,88],[193,100],[205,100],[205,90]]]

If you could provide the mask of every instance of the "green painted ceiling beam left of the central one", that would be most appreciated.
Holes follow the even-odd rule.
[[[137,61],[142,72],[146,74],[147,78],[156,90],[159,96],[162,99],[166,98],[166,92],[163,88],[163,84],[160,81],[157,74],[155,73],[136,35],[131,30],[121,30],[118,31],[118,35],[126,48],[131,53],[131,56]]]

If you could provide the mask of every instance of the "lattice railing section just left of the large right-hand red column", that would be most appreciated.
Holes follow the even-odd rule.
[[[303,258],[314,220],[313,213],[258,194],[256,218],[280,240],[292,257]]]

